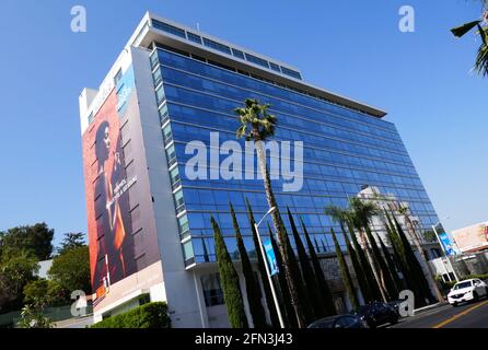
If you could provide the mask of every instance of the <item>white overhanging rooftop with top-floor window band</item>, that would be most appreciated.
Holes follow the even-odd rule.
[[[244,70],[246,72],[251,72],[251,74],[255,78],[276,83],[299,93],[325,100],[329,103],[353,109],[372,117],[383,118],[386,116],[386,112],[380,108],[363,104],[346,96],[341,96],[305,82],[301,71],[291,65],[254,52],[239,45],[228,43],[223,39],[175,23],[150,12],[144,14],[137,30],[130,37],[125,49],[112,67],[100,89],[83,90],[80,98],[80,101],[83,100],[85,103],[84,106],[81,106],[81,110],[83,112],[82,115],[86,114],[88,116],[90,113],[96,113],[96,105],[100,105],[100,101],[96,100],[101,100],[97,97],[101,97],[100,95],[103,95],[104,92],[109,90],[113,77],[115,77],[119,70],[120,61],[129,51],[129,48],[133,46],[153,49],[153,43],[156,43],[159,47],[171,47],[176,50],[189,52],[196,57],[205,57],[220,67],[232,67],[235,68],[236,71]]]

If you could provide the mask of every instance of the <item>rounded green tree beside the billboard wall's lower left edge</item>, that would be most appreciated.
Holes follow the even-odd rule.
[[[92,290],[90,279],[90,253],[86,246],[72,248],[63,255],[57,256],[48,271],[51,279],[71,295],[73,291]]]

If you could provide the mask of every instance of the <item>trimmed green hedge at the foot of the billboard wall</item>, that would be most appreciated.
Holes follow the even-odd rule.
[[[171,328],[171,319],[166,303],[158,302],[105,318],[91,328]]]

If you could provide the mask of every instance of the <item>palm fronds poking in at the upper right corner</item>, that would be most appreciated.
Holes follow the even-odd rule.
[[[488,1],[483,0],[484,10],[488,10]],[[481,45],[478,49],[474,70],[484,77],[488,77],[488,27],[484,25],[488,19],[488,12],[484,12],[484,18],[477,21],[465,23],[461,26],[452,28],[451,32],[455,37],[462,37],[473,28],[477,27],[478,34],[481,37]]]

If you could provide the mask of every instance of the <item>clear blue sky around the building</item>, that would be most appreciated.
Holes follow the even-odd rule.
[[[70,31],[73,5],[88,33]],[[413,5],[416,32],[398,31]],[[485,221],[486,92],[478,42],[449,28],[469,0],[0,1],[0,230],[86,231],[78,96],[98,86],[150,10],[301,69],[305,80],[390,113],[448,230]]]

